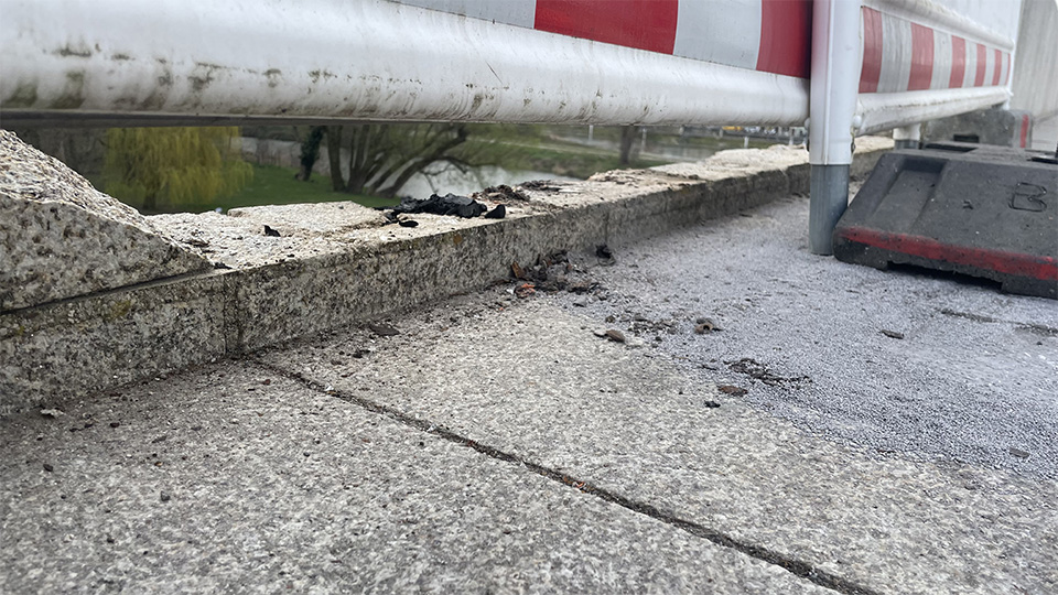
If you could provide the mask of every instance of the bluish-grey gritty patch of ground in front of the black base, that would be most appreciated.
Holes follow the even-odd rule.
[[[608,300],[561,303],[808,431],[1058,479],[1058,302],[817,257],[807,225],[791,198],[618,247],[593,271]],[[700,316],[723,331],[694,334]]]

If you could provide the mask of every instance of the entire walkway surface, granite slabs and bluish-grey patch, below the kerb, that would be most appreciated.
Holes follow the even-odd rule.
[[[1055,303],[807,212],[3,419],[0,591],[1058,592]]]

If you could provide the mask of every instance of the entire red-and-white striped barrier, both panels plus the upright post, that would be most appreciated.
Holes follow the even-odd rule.
[[[1021,2],[0,0],[0,123],[811,116],[829,253],[853,137],[1007,101]]]

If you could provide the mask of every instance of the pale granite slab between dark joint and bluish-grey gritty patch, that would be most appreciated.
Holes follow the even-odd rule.
[[[390,322],[400,335],[264,361],[841,591],[1058,589],[1054,482],[822,440],[543,300],[496,291]]]

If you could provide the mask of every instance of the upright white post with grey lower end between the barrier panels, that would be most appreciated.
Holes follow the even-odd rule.
[[[834,227],[849,204],[860,63],[860,0],[814,0],[808,235],[816,255],[833,253]]]

